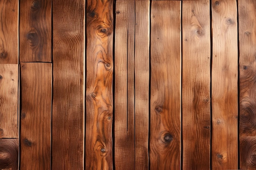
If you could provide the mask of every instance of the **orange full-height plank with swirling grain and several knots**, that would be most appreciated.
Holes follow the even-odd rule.
[[[87,1],[85,168],[112,170],[113,0]]]

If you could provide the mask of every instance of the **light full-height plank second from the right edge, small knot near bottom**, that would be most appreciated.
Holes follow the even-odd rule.
[[[238,169],[238,28],[236,0],[213,0],[211,3],[211,168]]]

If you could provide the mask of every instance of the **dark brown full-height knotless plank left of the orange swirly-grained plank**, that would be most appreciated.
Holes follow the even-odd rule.
[[[85,0],[53,1],[52,169],[83,169]]]

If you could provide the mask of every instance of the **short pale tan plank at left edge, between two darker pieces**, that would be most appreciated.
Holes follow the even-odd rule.
[[[0,138],[18,138],[18,64],[0,64]]]

